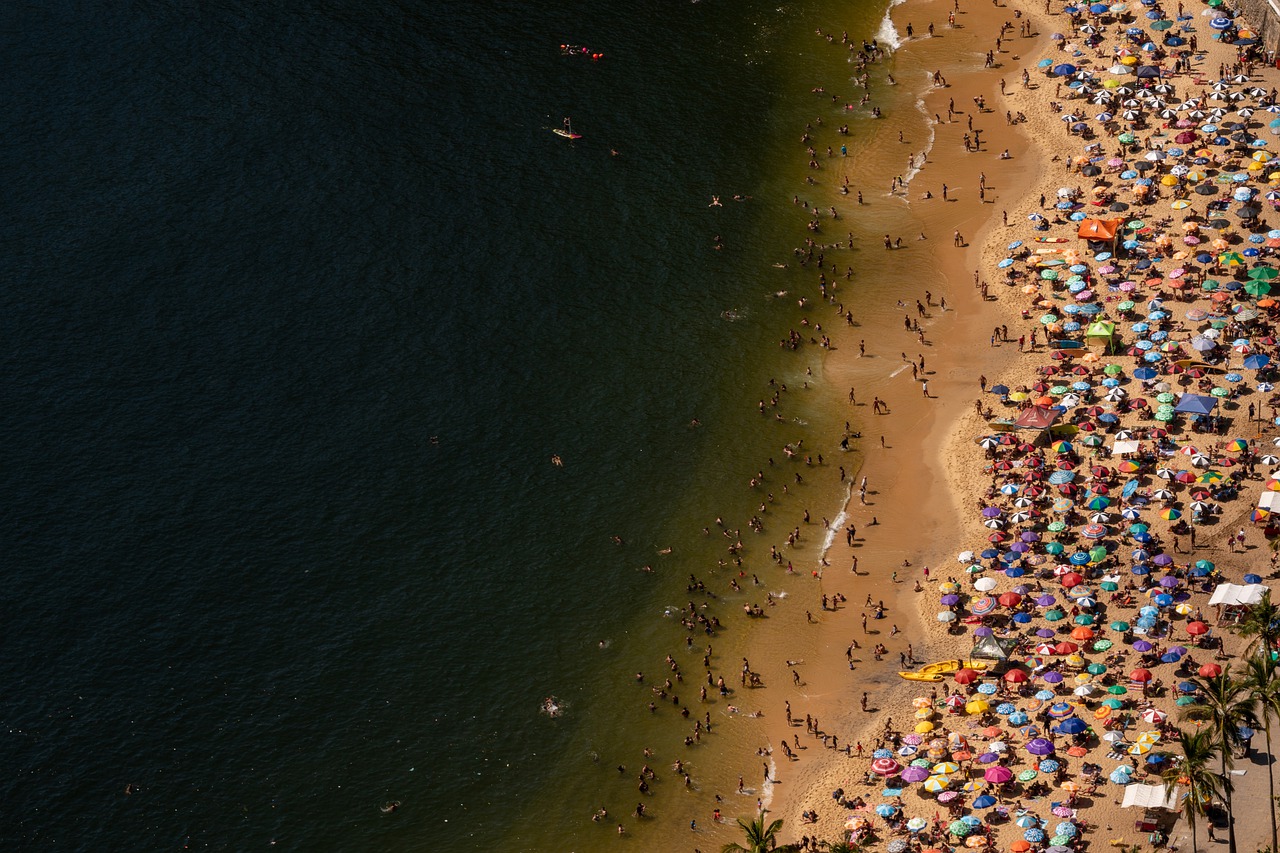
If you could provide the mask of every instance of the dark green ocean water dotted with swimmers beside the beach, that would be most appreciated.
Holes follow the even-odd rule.
[[[0,845],[614,845],[614,766],[678,743],[630,674],[682,651],[700,529],[842,425],[773,264],[796,96],[852,73],[814,27],[886,38],[884,4],[0,14]]]

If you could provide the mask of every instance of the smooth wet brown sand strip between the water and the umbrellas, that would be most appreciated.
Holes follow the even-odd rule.
[[[836,734],[841,747],[860,739],[869,751],[874,738],[868,729],[883,725],[883,715],[864,713],[861,694],[870,694],[868,707],[872,711],[909,708],[910,697],[918,694],[919,685],[897,676],[897,670],[902,669],[900,653],[910,643],[919,662],[947,656],[943,654],[946,649],[933,648],[938,644],[937,638],[932,626],[922,620],[922,594],[914,592],[914,585],[916,580],[923,581],[924,566],[931,566],[933,574],[948,570],[954,560],[954,543],[960,532],[957,510],[964,496],[951,488],[948,437],[955,433],[957,419],[972,411],[978,394],[977,377],[995,375],[1016,357],[1016,346],[989,346],[991,328],[1007,319],[1002,320],[996,306],[995,289],[991,300],[980,297],[973,272],[978,268],[984,241],[1001,223],[1000,211],[1029,192],[1042,174],[1043,160],[1037,156],[1023,127],[1007,127],[1002,110],[979,113],[974,97],[983,97],[988,108],[1000,106],[1001,76],[1014,76],[1020,68],[1015,56],[1038,53],[1037,45],[1047,42],[1047,33],[1038,38],[1012,38],[995,68],[983,68],[980,60],[965,68],[965,55],[975,58],[993,49],[1000,24],[1014,19],[1012,10],[989,5],[963,8],[957,15],[959,28],[948,29],[945,22],[951,6],[951,3],[908,3],[893,10],[900,32],[905,32],[908,20],[914,22],[918,32],[923,29],[919,22],[937,22],[934,32],[940,37],[909,41],[900,51],[918,51],[929,58],[925,63],[945,69],[948,83],[925,96],[925,111],[940,114],[943,123],[933,128],[933,149],[911,182],[910,206],[904,205],[904,224],[895,232],[910,237],[915,243],[913,251],[932,255],[938,277],[929,282],[884,283],[901,291],[913,307],[915,298],[923,300],[925,289],[932,291],[933,306],[922,323],[928,346],[919,347],[914,334],[900,329],[883,343],[874,345],[877,357],[869,364],[868,359],[858,357],[855,338],[859,336],[846,336],[827,364],[827,377],[837,388],[856,386],[859,389],[855,428],[863,432],[865,460],[855,478],[867,476],[869,493],[868,506],[861,506],[855,496],[847,510],[858,526],[855,547],[847,547],[844,535],[837,537],[828,557],[832,565],[823,578],[823,589],[842,590],[849,603],[840,612],[823,615],[820,652],[805,667],[805,689],[788,688],[791,695],[780,697],[791,702],[799,725],[787,726],[785,716],[776,712],[771,716],[772,743],[799,735],[805,747],[794,762],[774,753],[782,784],[774,789],[772,811],[774,817],[785,820],[783,838],[787,840],[799,840],[803,835],[838,838],[845,811],[835,806],[829,792],[847,789],[864,763],[842,751],[824,749],[818,738],[805,731],[805,715],[815,716],[826,733]],[[952,99],[955,120],[947,123],[946,111]],[[973,127],[984,131],[982,150],[975,152],[966,152],[963,143],[970,117]],[[1011,155],[1009,160],[998,156],[1005,149]],[[986,200],[978,197],[980,173],[987,178]],[[850,181],[856,183],[854,175]],[[942,183],[948,187],[947,201],[941,197]],[[934,197],[923,200],[925,190]],[[922,229],[931,236],[923,242],[916,240]],[[954,246],[956,229],[965,240],[963,247]],[[940,297],[946,297],[946,311],[938,306]],[[869,346],[869,355],[872,350]],[[904,350],[909,357],[924,353],[922,378],[928,379],[929,398],[923,397],[910,369],[900,370],[906,366],[900,355]],[[891,414],[873,415],[873,396],[886,400]],[[883,450],[881,435],[884,435]],[[876,526],[869,524],[873,517],[879,521]],[[854,556],[860,573],[856,579],[850,573]],[[904,561],[911,565],[904,566]],[[892,581],[895,573],[896,584]],[[870,619],[869,633],[864,633],[861,616],[873,615],[863,607],[868,594],[873,601],[883,601],[888,611],[883,620]],[[891,635],[893,625],[900,629],[897,635]],[[845,654],[850,640],[863,647],[854,653],[852,671]],[[888,648],[881,662],[872,656],[876,643]],[[771,707],[780,708],[781,702]],[[809,809],[819,813],[817,825],[804,822],[801,815]]]

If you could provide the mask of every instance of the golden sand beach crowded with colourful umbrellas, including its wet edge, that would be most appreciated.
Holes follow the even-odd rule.
[[[1148,10],[1153,9],[1138,4],[1132,13],[1085,10],[1073,20],[1057,1],[1043,6],[997,4],[959,9],[955,27],[941,23],[956,12],[951,3],[908,3],[895,10],[900,31],[909,19],[940,22],[940,37],[909,41],[902,50],[936,51],[942,67],[955,61],[960,40],[970,40],[977,49],[966,46],[969,55],[980,58],[992,50],[993,61],[988,68],[979,59],[946,74],[946,86],[925,99],[924,113],[942,120],[933,127],[928,161],[909,186],[904,229],[910,222],[933,236],[928,251],[942,274],[931,282],[893,283],[908,304],[923,298],[927,288],[932,291],[920,320],[929,345],[925,369],[916,366],[913,373],[918,379],[913,380],[896,366],[886,371],[883,361],[868,364],[859,357],[856,333],[840,338],[826,366],[836,387],[859,389],[851,411],[864,432],[867,452],[854,476],[865,476],[868,487],[865,505],[855,497],[847,512],[856,535],[851,543],[844,534],[837,538],[822,579],[827,592],[856,589],[856,596],[845,592],[847,603],[822,611],[814,629],[817,640],[805,640],[817,657],[806,661],[799,684],[771,697],[768,726],[777,781],[767,817],[783,821],[781,840],[805,845],[819,839],[847,840],[849,827],[856,827],[855,835],[870,849],[1041,850],[1055,836],[1060,847],[1073,850],[1149,847],[1151,833],[1137,829],[1144,811],[1120,808],[1128,785],[1115,781],[1112,774],[1129,766],[1133,784],[1157,783],[1164,768],[1179,760],[1174,724],[1187,708],[1204,707],[1203,698],[1196,701],[1197,693],[1179,692],[1179,683],[1201,679],[1203,693],[1215,684],[1215,667],[1228,674],[1219,678],[1239,674],[1245,642],[1217,625],[1217,613],[1207,602],[1220,583],[1239,584],[1245,574],[1271,573],[1262,526],[1251,516],[1274,467],[1263,459],[1271,452],[1275,428],[1245,416],[1247,406],[1261,415],[1271,402],[1266,383],[1256,370],[1244,368],[1243,357],[1274,353],[1268,324],[1275,307],[1265,298],[1268,288],[1245,292],[1230,283],[1270,280],[1267,273],[1251,278],[1249,270],[1268,268],[1267,257],[1280,246],[1267,236],[1265,214],[1243,219],[1235,214],[1242,204],[1235,191],[1242,184],[1252,188],[1267,211],[1272,206],[1270,201],[1261,204],[1274,178],[1260,152],[1272,142],[1267,123],[1274,114],[1266,108],[1276,73],[1252,63],[1233,68],[1238,47],[1211,37],[1221,32],[1210,24],[1216,23],[1221,8],[1197,4],[1179,8],[1181,18],[1170,9],[1155,19]],[[1170,26],[1152,29],[1148,24],[1153,20]],[[1233,26],[1231,35],[1240,37],[1247,23]],[[1140,38],[1130,40],[1129,27],[1140,28]],[[1165,44],[1171,32],[1184,44]],[[1175,65],[1179,47],[1189,47],[1192,36],[1197,50],[1188,51],[1189,69]],[[1148,38],[1161,42],[1162,51],[1143,53]],[[1132,63],[1125,59],[1130,54]],[[1051,60],[1051,68],[1070,61],[1085,74],[1052,74],[1041,67],[1042,60]],[[1155,64],[1157,74],[1137,77],[1135,67],[1147,64]],[[1167,91],[1157,92],[1157,86]],[[1220,92],[1222,97],[1212,100]],[[1133,100],[1138,96],[1140,100]],[[975,99],[986,109],[979,109]],[[1208,113],[1213,106],[1224,113]],[[1242,108],[1247,111],[1236,111]],[[1103,111],[1111,118],[1096,118]],[[1069,113],[1078,118],[1064,120]],[[1133,118],[1121,118],[1121,113]],[[1010,123],[1019,115],[1025,120]],[[1240,122],[1244,127],[1233,128],[1235,132],[1248,132],[1247,140],[1257,136],[1262,142],[1215,142],[1213,120],[1224,128]],[[1087,128],[1087,137],[1073,131],[1078,123]],[[1211,124],[1208,131],[1206,124]],[[975,131],[980,131],[977,147],[972,143]],[[1126,132],[1133,133],[1132,142],[1121,141],[1130,138],[1121,137]],[[1175,143],[1178,133],[1188,133],[1183,137],[1187,142]],[[1096,147],[1087,149],[1091,143]],[[1160,154],[1148,156],[1152,151]],[[1134,168],[1139,163],[1146,165]],[[1243,177],[1233,181],[1233,175]],[[850,179],[856,184],[864,178],[855,174]],[[1146,186],[1146,178],[1153,178],[1152,188],[1134,191]],[[943,184],[946,200],[941,197]],[[1060,192],[1065,190],[1070,192]],[[1208,209],[1224,201],[1221,210]],[[1076,213],[1084,216],[1071,219]],[[1120,240],[1115,246],[1091,247],[1078,237],[1083,219],[1119,220]],[[1132,227],[1135,220],[1137,227]],[[954,232],[959,232],[956,240]],[[1060,242],[1037,243],[1037,238]],[[1125,238],[1137,243],[1121,248]],[[1011,248],[1015,241],[1020,245]],[[1211,255],[1207,260],[1197,260],[1201,246]],[[1103,248],[1114,251],[1103,255]],[[1243,254],[1245,248],[1257,251]],[[1229,252],[1242,254],[1229,257]],[[1046,265],[1052,260],[1061,264]],[[1044,277],[1047,270],[1055,275]],[[1010,278],[1010,272],[1019,277]],[[1084,288],[1068,284],[1071,274]],[[986,295],[975,287],[982,283]],[[1082,289],[1093,291],[1092,298],[1078,298]],[[1151,306],[1153,298],[1162,298],[1164,305]],[[1069,305],[1094,305],[1098,309],[1091,310],[1100,314],[1068,314]],[[1125,305],[1129,307],[1121,307]],[[1165,306],[1169,310],[1162,310]],[[1148,319],[1157,311],[1167,316]],[[1252,316],[1242,320],[1244,311]],[[1042,321],[1047,314],[1057,319]],[[1084,320],[1080,328],[1066,327],[1073,316]],[[1083,332],[1100,316],[1116,324],[1111,351],[1047,346],[1050,339],[1083,343]],[[1215,328],[1216,319],[1221,324]],[[1147,328],[1134,330],[1143,321]],[[1007,328],[1007,338],[995,337],[997,327]],[[1212,346],[1193,347],[1192,338],[1203,338],[1206,332]],[[1139,341],[1149,348],[1135,348]],[[1169,346],[1174,343],[1178,347]],[[918,350],[914,339],[901,346],[872,342],[872,348],[896,365],[906,364],[897,350]],[[1162,356],[1148,360],[1147,352]],[[1202,362],[1207,366],[1199,368]],[[1105,370],[1107,365],[1115,370]],[[1152,379],[1134,375],[1142,366],[1155,369]],[[1240,378],[1228,379],[1228,374]],[[1004,384],[1027,392],[1014,391],[1016,400],[1005,396],[1002,401],[979,388],[979,377],[988,389]],[[1114,387],[1123,393],[1107,393],[1111,388],[1102,384],[1105,378],[1119,379]],[[1010,444],[983,448],[977,443],[980,437],[1001,434],[1004,428],[996,420],[1027,412],[1038,397],[1050,396],[1046,403],[1061,405],[1075,382],[1088,388],[1075,392],[1068,411],[1056,416],[1069,430],[1051,435],[1014,429],[1002,433],[1012,437]],[[1158,382],[1167,382],[1166,389],[1156,388]],[[1221,396],[1215,389],[1221,389]],[[1164,394],[1170,394],[1169,402],[1157,402]],[[1193,433],[1185,414],[1153,416],[1160,414],[1155,411],[1158,405],[1172,405],[1183,394],[1216,400],[1215,411],[1224,415],[1224,423],[1212,432]],[[1138,397],[1148,405],[1130,405]],[[873,398],[883,400],[888,414],[873,412]],[[1101,415],[1114,418],[1100,420]],[[1120,430],[1132,433],[1140,450],[1108,451]],[[1071,446],[1055,450],[1052,442],[1062,439]],[[1243,441],[1233,444],[1233,439]],[[1203,451],[1203,464],[1192,450]],[[1070,470],[1073,488],[1055,489],[1039,475],[1024,478],[1034,470],[1028,464],[1032,459],[1039,460],[1041,474]],[[1178,471],[1187,471],[1192,482],[1181,484],[1172,476]],[[1217,476],[1210,476],[1211,471]],[[1130,480],[1138,491],[1121,498],[1120,491]],[[1224,492],[1222,483],[1233,488]],[[1016,488],[1004,493],[1000,485]],[[1169,491],[1167,497],[1161,488]],[[1087,502],[1094,497],[1106,500],[1091,510]],[[1018,500],[1027,503],[1015,506]],[[1055,501],[1064,500],[1069,510],[1062,507],[1055,515]],[[1197,502],[1207,505],[1203,512],[1193,508]],[[983,514],[988,508],[992,517]],[[1011,521],[1019,510],[1032,515]],[[1132,512],[1123,516],[1121,510]],[[1187,524],[1193,515],[1203,515],[1194,524],[1199,534],[1194,547],[1187,534],[1175,532],[1183,529],[1179,521]],[[1047,529],[1055,521],[1064,526]],[[1147,525],[1144,534],[1152,539],[1134,539],[1132,524]],[[1087,525],[1101,528],[1088,533],[1097,538],[1082,538]],[[1244,538],[1239,549],[1228,544],[1236,530],[1243,530]],[[1012,565],[1002,557],[977,556],[986,548],[1009,553],[1005,549],[1021,540],[1020,533],[1034,535],[1018,553],[1020,573],[1015,576],[1000,570]],[[993,537],[1000,540],[992,542]],[[1062,548],[1048,549],[1053,542]],[[1066,561],[1071,553],[1088,555],[1098,543],[1107,547],[1105,556],[1087,556],[1083,564]],[[975,556],[957,561],[963,552]],[[1166,560],[1158,560],[1161,555]],[[850,571],[855,557],[856,578]],[[1065,570],[1055,571],[1056,565]],[[1211,570],[1201,574],[1197,565]],[[1135,574],[1135,566],[1143,573]],[[1071,584],[1064,584],[1064,578]],[[975,588],[980,579],[989,583]],[[952,584],[947,589],[956,596],[954,603],[941,603],[943,584]],[[1082,608],[1071,589],[1088,589],[1089,603]],[[993,598],[993,611],[986,610],[986,592]],[[1162,592],[1170,602],[1157,606],[1155,596]],[[1001,594],[1007,597],[997,598]],[[1046,619],[1052,611],[1034,605],[1037,597],[1047,594],[1061,603],[1061,619]],[[874,617],[868,602],[883,602],[883,619]],[[1134,634],[1140,606],[1157,607],[1157,615],[1149,628]],[[955,615],[954,622],[938,621],[945,611]],[[1117,628],[1121,624],[1124,629]],[[1207,628],[1207,633],[1193,625]],[[1020,640],[1007,661],[988,661],[1000,676],[979,671],[974,681],[957,684],[952,675],[937,683],[897,675],[899,670],[916,669],[902,660],[909,652],[916,662],[966,658],[979,628],[996,638]],[[851,640],[858,648],[851,648]],[[1051,643],[1046,646],[1046,640]],[[877,644],[886,647],[883,654],[873,654]],[[1169,649],[1179,644],[1187,651],[1172,654]],[[1162,660],[1169,654],[1172,657]],[[1190,661],[1194,666],[1188,667]],[[1160,689],[1149,689],[1156,680],[1162,683]],[[989,685],[987,707],[972,704],[988,695],[982,684]],[[1051,698],[1036,698],[1046,690]],[[950,695],[960,697],[959,707],[946,703]],[[1187,701],[1176,702],[1180,698]],[[1002,702],[1012,710],[997,712]],[[1051,706],[1064,707],[1053,717],[1041,716]],[[1009,722],[1020,719],[1014,717],[1019,713],[1030,721],[1024,725],[1038,726],[1034,733],[1019,731],[1023,726]],[[1087,734],[1056,733],[1060,720],[1068,717],[1082,721]],[[1120,720],[1123,726],[1116,722]],[[1197,729],[1189,722],[1183,727]],[[1120,736],[1103,736],[1110,733]],[[1033,735],[1050,742],[1048,752],[1028,752]],[[941,740],[934,745],[938,754],[925,761],[934,740]],[[794,758],[785,757],[783,743]],[[882,754],[897,767],[886,766],[890,772],[873,768],[877,748],[887,749]],[[1162,760],[1148,761],[1152,754]],[[919,780],[896,781],[913,761],[923,765],[924,779],[942,776],[943,793],[952,795],[940,800],[937,792],[925,790]],[[943,761],[954,761],[956,767],[934,772]],[[1215,757],[1213,766],[1217,761]],[[749,766],[745,760],[744,765]],[[1084,774],[1085,766],[1091,771],[1096,766],[1098,772]],[[1001,775],[997,767],[1009,774]],[[1007,775],[1012,775],[1011,783],[988,781]],[[1238,847],[1261,849],[1270,843],[1270,824],[1263,818],[1266,766],[1257,758],[1239,758],[1231,779],[1236,785],[1234,812],[1248,815],[1236,821]],[[1043,790],[1034,789],[1037,784]],[[886,797],[883,789],[901,793]],[[838,798],[833,797],[837,790],[842,792]],[[975,808],[974,800],[987,793],[998,804]],[[817,818],[810,820],[814,813]],[[954,827],[966,815],[975,824]],[[1174,826],[1172,813],[1152,816],[1161,818],[1153,825],[1170,831],[1172,844],[1192,845],[1185,821]],[[908,818],[919,818],[923,827],[908,829]],[[891,821],[904,824],[893,829]],[[1207,822],[1199,818],[1199,843],[1206,840]],[[1036,838],[1036,830],[1043,835]]]

